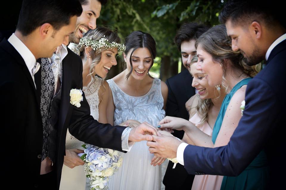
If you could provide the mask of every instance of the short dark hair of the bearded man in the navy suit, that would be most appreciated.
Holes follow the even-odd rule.
[[[267,26],[273,26],[277,22],[285,27],[284,11],[279,6],[277,0],[272,0],[271,3],[263,1],[246,1],[246,0],[229,0],[224,5],[219,15],[221,23],[225,24],[230,20],[233,25],[248,24],[254,20],[264,21]]]

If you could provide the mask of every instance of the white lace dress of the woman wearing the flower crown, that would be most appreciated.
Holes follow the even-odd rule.
[[[99,97],[98,91],[103,80],[99,77],[94,77],[95,82],[88,86],[83,86],[83,92],[86,96],[86,100],[90,107],[90,115],[93,116],[95,120],[98,120],[98,105]],[[69,133],[66,134],[66,149],[81,149],[83,150],[84,143],[77,140],[74,136]],[[60,180],[60,190],[85,190],[89,189],[89,183],[86,182],[86,173],[84,172],[83,166],[76,166],[74,168],[69,168],[63,164],[62,177]]]

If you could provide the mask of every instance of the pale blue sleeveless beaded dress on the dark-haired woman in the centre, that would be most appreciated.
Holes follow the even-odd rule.
[[[114,125],[133,119],[157,126],[165,117],[161,80],[154,79],[152,87],[144,96],[129,96],[116,83],[107,80],[112,91],[115,110]],[[154,154],[150,154],[147,141],[137,142],[130,152],[123,154],[122,166],[109,179],[111,190],[159,190],[161,189],[161,166],[150,165]]]

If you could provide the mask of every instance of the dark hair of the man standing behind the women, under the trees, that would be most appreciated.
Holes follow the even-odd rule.
[[[187,22],[182,24],[180,29],[178,29],[177,34],[175,35],[174,42],[177,45],[178,49],[181,51],[181,43],[189,42],[194,39],[197,40],[200,35],[205,33],[209,29],[208,26],[204,24]]]

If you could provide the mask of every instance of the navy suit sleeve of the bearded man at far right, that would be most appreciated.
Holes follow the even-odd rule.
[[[239,175],[263,149],[283,118],[281,110],[285,108],[279,107],[280,100],[273,92],[263,80],[252,79],[246,90],[243,117],[228,145],[218,148],[188,145],[184,151],[187,172]]]

